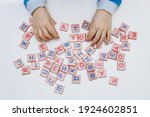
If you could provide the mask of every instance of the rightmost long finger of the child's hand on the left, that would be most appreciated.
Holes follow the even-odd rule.
[[[55,27],[52,26],[50,23],[46,25],[46,29],[54,38],[59,38],[58,32],[56,31]]]

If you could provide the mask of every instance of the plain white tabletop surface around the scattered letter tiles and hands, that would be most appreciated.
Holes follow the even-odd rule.
[[[96,0],[49,0],[48,9],[57,21],[82,23],[84,19],[91,20],[96,10]],[[63,95],[54,93],[54,87],[45,83],[39,76],[40,71],[33,71],[31,75],[22,76],[16,70],[13,61],[22,58],[26,65],[26,55],[38,53],[38,42],[35,38],[27,50],[19,48],[23,32],[18,27],[30,17],[21,1],[0,3],[0,99],[150,99],[150,55],[149,55],[149,26],[150,7],[148,0],[123,0],[121,7],[113,16],[113,26],[118,27],[122,22],[130,25],[130,30],[138,32],[138,40],[130,41],[131,51],[125,52],[127,70],[118,72],[116,62],[109,60],[105,63],[108,77],[89,81],[86,71],[82,74],[80,85],[71,84],[71,76],[67,75],[64,82],[57,82],[65,86]],[[84,30],[81,30],[85,32]],[[49,49],[68,40],[69,33],[59,32],[60,39],[47,43]],[[114,38],[115,42],[118,42]],[[84,44],[84,48],[89,43]],[[93,58],[98,59],[99,52],[107,52],[110,46],[97,50]],[[41,64],[42,65],[42,64]],[[117,87],[108,85],[109,76],[120,78]]]

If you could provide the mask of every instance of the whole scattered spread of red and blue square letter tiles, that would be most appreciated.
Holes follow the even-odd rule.
[[[30,44],[30,39],[33,36],[33,31],[30,25],[22,23],[20,30],[24,32],[23,39],[19,46],[27,49]],[[54,86],[57,80],[64,81],[67,74],[71,75],[72,84],[80,84],[81,76],[78,71],[86,70],[89,81],[106,78],[107,72],[104,68],[104,62],[109,59],[117,62],[116,68],[118,71],[126,70],[125,54],[123,51],[130,51],[129,40],[137,40],[137,32],[128,31],[129,26],[122,23],[119,28],[114,28],[112,36],[119,38],[121,44],[114,43],[111,39],[110,43],[112,49],[106,52],[99,52],[99,59],[94,60],[92,54],[96,51],[95,47],[88,46],[83,50],[82,43],[86,41],[86,33],[80,33],[79,24],[60,24],[60,31],[68,32],[71,27],[72,34],[69,34],[69,40],[60,44],[54,50],[50,50],[45,42],[38,45],[39,53],[32,53],[27,55],[27,62],[30,65],[24,65],[21,58],[14,61],[17,69],[21,68],[22,75],[30,74],[32,70],[40,70],[40,76],[46,78],[47,84]],[[81,28],[88,31],[90,22],[84,20]],[[29,30],[30,29],[30,30]],[[97,51],[99,51],[97,49]],[[61,55],[65,54],[66,58]],[[67,59],[67,63],[64,63]],[[44,62],[40,67],[41,62]],[[110,76],[108,84],[117,86],[119,78]],[[55,85],[55,92],[63,94],[64,86],[60,84]]]

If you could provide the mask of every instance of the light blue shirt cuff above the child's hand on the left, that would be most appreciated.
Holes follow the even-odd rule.
[[[29,0],[27,3],[27,9],[32,14],[32,12],[38,7],[46,7],[46,0]]]

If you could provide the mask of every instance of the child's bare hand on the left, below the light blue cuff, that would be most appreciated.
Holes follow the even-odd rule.
[[[32,25],[36,38],[39,41],[48,41],[59,38],[54,27],[55,21],[44,7],[39,7],[33,12]]]

